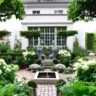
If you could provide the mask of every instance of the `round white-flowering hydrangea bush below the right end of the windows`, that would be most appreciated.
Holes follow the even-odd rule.
[[[71,53],[64,49],[59,50],[58,55],[62,64],[68,63],[71,59]]]

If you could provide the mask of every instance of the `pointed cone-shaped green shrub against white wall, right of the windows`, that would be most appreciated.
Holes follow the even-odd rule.
[[[73,43],[73,53],[74,57],[72,58],[75,58],[75,57],[84,57],[87,55],[87,52],[84,48],[81,48],[80,45],[79,45],[79,42],[78,42],[78,39],[76,38],[74,43]]]

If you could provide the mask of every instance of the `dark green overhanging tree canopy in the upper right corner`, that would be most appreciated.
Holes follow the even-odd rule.
[[[68,18],[73,22],[93,20],[96,18],[96,0],[72,0],[68,8]]]

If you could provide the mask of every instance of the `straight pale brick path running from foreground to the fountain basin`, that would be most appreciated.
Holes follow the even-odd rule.
[[[36,96],[57,96],[57,91],[54,84],[38,84]]]

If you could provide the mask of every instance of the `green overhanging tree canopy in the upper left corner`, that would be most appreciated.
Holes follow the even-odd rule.
[[[6,21],[15,15],[16,19],[23,19],[25,14],[21,0],[0,0],[0,21]]]

